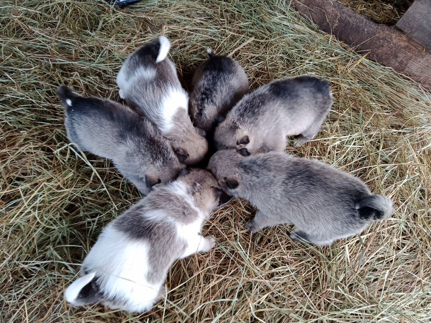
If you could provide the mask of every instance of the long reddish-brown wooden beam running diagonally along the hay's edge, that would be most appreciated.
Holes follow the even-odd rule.
[[[321,29],[332,33],[356,51],[411,77],[431,89],[431,53],[395,27],[371,21],[331,0],[292,0]]]

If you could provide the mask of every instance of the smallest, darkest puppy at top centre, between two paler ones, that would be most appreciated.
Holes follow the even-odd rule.
[[[211,133],[249,87],[247,75],[238,62],[214,55],[210,49],[208,54],[210,58],[193,76],[189,107],[194,125]]]

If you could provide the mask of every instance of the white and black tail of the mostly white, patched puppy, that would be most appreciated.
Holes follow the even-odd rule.
[[[100,293],[95,276],[96,273],[92,272],[74,281],[64,292],[66,302],[74,306],[97,303]]]

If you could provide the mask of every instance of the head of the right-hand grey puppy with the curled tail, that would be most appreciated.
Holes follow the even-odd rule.
[[[220,187],[230,195],[234,195],[241,184],[240,164],[243,160],[243,156],[229,149],[216,152],[208,163],[208,169],[216,176]]]

